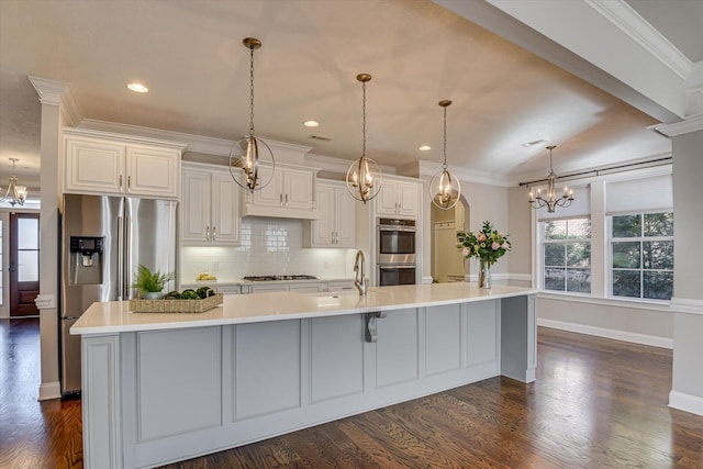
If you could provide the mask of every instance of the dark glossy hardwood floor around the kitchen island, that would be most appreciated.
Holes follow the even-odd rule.
[[[703,468],[671,350],[539,328],[537,381],[492,378],[167,468]],[[79,468],[80,401],[37,402],[38,322],[0,320],[0,468]]]

